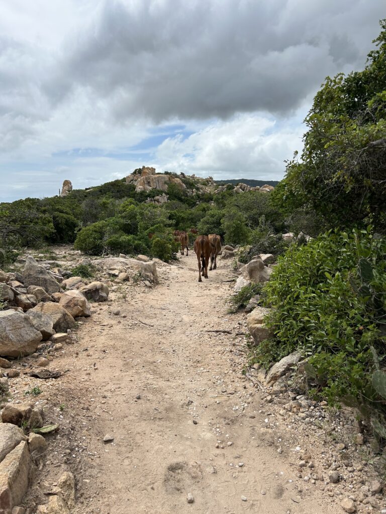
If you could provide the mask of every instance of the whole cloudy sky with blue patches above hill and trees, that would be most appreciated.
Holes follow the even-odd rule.
[[[384,0],[0,0],[0,201],[142,164],[280,179]]]

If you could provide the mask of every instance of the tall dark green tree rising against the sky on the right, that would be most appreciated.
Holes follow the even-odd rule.
[[[287,214],[313,210],[329,227],[386,230],[386,20],[362,71],[327,77],[306,117],[301,159],[272,194]]]

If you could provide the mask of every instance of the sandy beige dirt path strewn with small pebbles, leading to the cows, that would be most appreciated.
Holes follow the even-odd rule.
[[[266,428],[269,413],[241,374],[245,326],[242,315],[226,314],[229,266],[220,261],[199,284],[191,253],[159,274],[154,289],[127,287],[126,300],[116,291],[96,305],[79,344],[57,361],[68,361],[66,409],[84,427],[72,427],[67,451],[74,512],[337,512],[295,477],[293,448]],[[232,334],[208,332],[216,329]],[[103,444],[107,433],[114,440]]]

